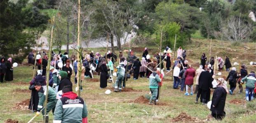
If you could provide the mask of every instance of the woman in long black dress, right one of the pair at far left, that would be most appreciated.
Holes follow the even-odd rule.
[[[6,72],[5,72],[5,81],[13,80],[13,66],[12,66],[12,58],[8,58],[6,62]]]

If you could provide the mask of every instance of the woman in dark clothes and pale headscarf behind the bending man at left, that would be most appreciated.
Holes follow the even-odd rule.
[[[30,81],[30,86],[28,89],[31,90],[31,98],[29,102],[29,109],[36,111],[38,109],[38,91],[35,90],[34,84],[39,82],[41,86],[46,85],[45,77],[42,77],[42,70],[36,72],[36,76]]]

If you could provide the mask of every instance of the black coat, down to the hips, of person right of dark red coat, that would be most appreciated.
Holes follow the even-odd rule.
[[[211,73],[209,73],[209,71],[202,71],[198,79],[199,88],[203,90],[209,90],[210,88],[212,88],[212,81],[213,78]]]

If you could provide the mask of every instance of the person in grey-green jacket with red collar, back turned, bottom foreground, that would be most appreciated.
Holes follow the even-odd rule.
[[[53,123],[87,123],[85,100],[72,92],[71,86],[65,86],[62,92],[62,98],[56,103]]]

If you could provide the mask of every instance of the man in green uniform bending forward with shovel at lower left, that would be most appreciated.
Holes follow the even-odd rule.
[[[48,87],[48,98],[47,98],[47,114],[45,114],[45,107],[43,107],[44,103],[45,103],[45,95],[46,95],[46,86],[41,86],[39,82],[35,82],[34,84],[35,89],[38,91],[38,96],[39,96],[39,103],[38,103],[38,109],[36,112],[36,115],[40,115],[40,111],[42,109],[42,115],[45,116],[46,115],[46,123],[48,123],[49,121],[49,117],[48,117],[48,113],[52,110],[52,113],[54,113],[54,109],[55,109],[55,105],[57,103],[56,100],[56,92],[54,91],[54,89],[52,89],[52,87]]]

